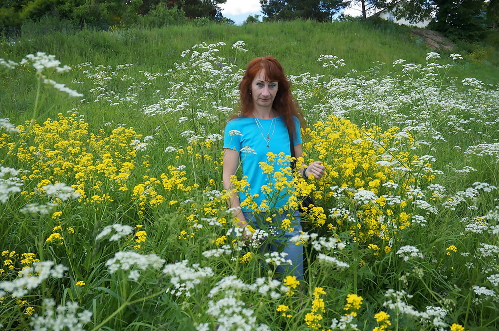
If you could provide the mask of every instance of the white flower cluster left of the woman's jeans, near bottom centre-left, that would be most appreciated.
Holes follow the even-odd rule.
[[[188,263],[188,260],[184,260],[165,266],[163,273],[171,277],[170,283],[173,285],[166,293],[171,293],[175,296],[185,295],[186,297],[190,297],[191,291],[197,285],[201,284],[204,279],[215,275],[210,267],[201,268],[199,264],[193,264],[192,267],[189,267]]]

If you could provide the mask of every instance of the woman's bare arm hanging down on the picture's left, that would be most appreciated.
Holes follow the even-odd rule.
[[[224,167],[222,171],[222,180],[224,188],[231,190],[232,182],[231,176],[236,174],[239,166],[239,152],[228,148],[224,149]],[[243,212],[241,211],[241,201],[239,201],[238,192],[234,192],[230,198],[227,199],[229,208],[233,208],[234,217],[239,219],[238,226],[244,228],[248,225]]]

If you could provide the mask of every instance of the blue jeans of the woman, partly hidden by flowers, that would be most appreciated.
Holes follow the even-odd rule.
[[[263,218],[267,217],[266,213],[255,213],[255,212],[243,212],[245,219],[251,226],[259,229],[258,220],[261,220],[263,223],[263,227],[272,226],[275,224],[277,228],[276,238],[273,240],[273,244],[268,244],[266,247],[263,247],[264,252],[275,252],[277,251],[279,246],[282,246],[282,252],[287,253],[285,257],[286,260],[291,260],[292,265],[285,266],[277,266],[276,272],[283,275],[293,274],[296,279],[303,280],[303,246],[296,245],[294,242],[291,242],[290,239],[294,236],[300,234],[301,231],[301,216],[299,211],[295,211],[290,217],[291,225],[293,228],[292,232],[284,231],[280,228],[281,222],[284,218],[286,218],[286,213],[277,214],[275,217],[272,217],[272,223],[266,222]],[[266,229],[262,230],[266,230]]]

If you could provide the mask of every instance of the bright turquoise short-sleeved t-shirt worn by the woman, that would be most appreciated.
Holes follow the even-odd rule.
[[[295,125],[293,143],[298,145],[301,144],[300,121],[296,117],[293,117],[293,120]],[[267,136],[270,138],[268,143]],[[257,197],[253,198],[258,206],[263,200],[267,201],[269,208],[280,208],[287,202],[289,197],[287,192],[272,192],[268,194],[271,196],[262,193],[261,186],[268,185],[271,178],[262,171],[259,165],[260,162],[267,162],[267,153],[269,152],[275,155],[281,152],[285,155],[291,155],[289,134],[282,117],[258,119],[258,123],[255,118],[247,116],[229,121],[225,127],[224,148],[239,152],[243,175],[248,176],[250,184],[249,194],[250,196],[258,194]],[[281,166],[289,166],[289,162],[278,165],[278,167]],[[239,198],[243,202],[246,200],[247,194],[240,192]],[[253,210],[249,206],[243,206],[242,210],[245,212],[259,211]]]

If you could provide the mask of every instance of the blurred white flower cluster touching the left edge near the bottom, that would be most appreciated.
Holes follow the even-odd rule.
[[[13,281],[0,283],[0,297],[5,296],[5,292],[10,292],[12,298],[20,298],[37,288],[49,277],[61,278],[68,268],[62,264],[55,265],[53,261],[34,262],[31,267],[26,267],[19,271],[18,277]]]

